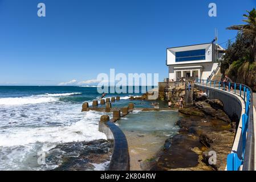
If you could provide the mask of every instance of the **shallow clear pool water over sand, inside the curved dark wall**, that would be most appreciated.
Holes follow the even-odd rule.
[[[177,111],[133,111],[121,118],[117,125],[127,137],[131,170],[148,170],[145,163],[157,157],[157,153],[178,132]]]

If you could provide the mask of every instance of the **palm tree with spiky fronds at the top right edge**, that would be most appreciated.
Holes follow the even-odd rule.
[[[247,24],[240,24],[228,27],[228,30],[238,30],[242,32],[244,35],[248,35],[251,37],[251,60],[256,61],[256,10],[255,8],[251,11],[247,11],[247,14],[244,14],[243,17],[246,18],[243,20],[243,22],[246,22]]]

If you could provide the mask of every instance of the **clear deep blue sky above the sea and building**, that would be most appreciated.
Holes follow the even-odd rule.
[[[37,5],[46,5],[46,17]],[[217,17],[208,16],[210,2]],[[166,48],[219,43],[236,31],[254,0],[0,0],[0,85],[58,85],[99,73],[168,77]],[[222,44],[225,46],[225,44]],[[88,81],[93,84],[93,81]],[[65,85],[65,84],[64,84]],[[68,84],[66,84],[68,85]]]

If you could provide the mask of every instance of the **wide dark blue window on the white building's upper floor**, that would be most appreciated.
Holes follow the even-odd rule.
[[[176,52],[176,62],[205,60],[205,49]]]

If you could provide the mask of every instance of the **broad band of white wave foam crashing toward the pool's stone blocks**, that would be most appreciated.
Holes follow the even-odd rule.
[[[62,126],[11,127],[0,133],[0,146],[25,146],[31,143],[66,143],[106,139],[98,131],[100,114],[89,111],[80,115],[80,121]]]

